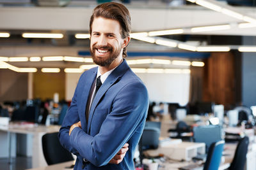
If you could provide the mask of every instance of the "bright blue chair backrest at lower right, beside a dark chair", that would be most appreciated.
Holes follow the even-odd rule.
[[[225,141],[223,140],[211,144],[204,164],[204,170],[218,170],[224,145]]]

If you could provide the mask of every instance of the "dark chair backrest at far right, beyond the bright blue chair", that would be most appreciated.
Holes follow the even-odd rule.
[[[244,164],[246,161],[246,154],[248,151],[248,145],[249,145],[249,138],[247,136],[240,139],[240,141],[236,147],[234,159],[232,160],[230,167],[229,167],[230,170],[244,169]]]

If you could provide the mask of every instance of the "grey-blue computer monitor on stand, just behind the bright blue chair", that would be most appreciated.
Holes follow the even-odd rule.
[[[212,143],[221,139],[220,125],[202,125],[193,128],[193,140],[198,143],[205,143],[205,152],[208,152]]]

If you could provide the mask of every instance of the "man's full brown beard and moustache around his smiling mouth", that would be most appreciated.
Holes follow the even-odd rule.
[[[99,48],[101,50],[108,50],[109,56],[97,57],[95,55],[95,50]],[[114,51],[111,45],[106,45],[106,46],[93,45],[92,48],[90,48],[90,53],[92,55],[93,62],[95,62],[95,64],[99,66],[104,67],[104,66],[109,66],[113,62],[113,60],[115,60],[120,55],[121,50],[122,48],[120,46],[118,46],[118,48],[116,48],[116,50]]]

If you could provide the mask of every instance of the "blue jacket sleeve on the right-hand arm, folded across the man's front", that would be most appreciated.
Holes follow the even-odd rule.
[[[143,124],[147,110],[145,86],[138,81],[128,83],[116,95],[113,108],[102,123],[99,134],[92,137],[82,129],[75,128],[69,143],[81,157],[95,166],[106,165]]]

